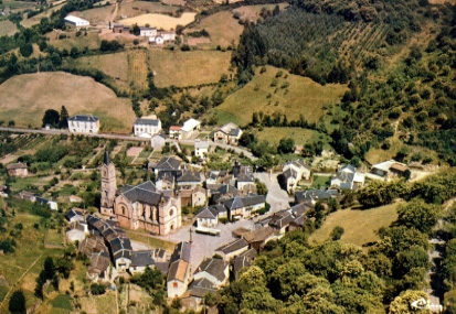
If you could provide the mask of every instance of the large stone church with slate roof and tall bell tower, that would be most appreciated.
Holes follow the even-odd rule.
[[[120,227],[168,235],[182,224],[181,198],[172,190],[158,190],[150,181],[117,188],[116,167],[105,151],[100,212],[115,217]]]

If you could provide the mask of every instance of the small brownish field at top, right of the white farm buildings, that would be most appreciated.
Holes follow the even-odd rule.
[[[227,47],[232,42],[237,46],[244,26],[233,18],[231,12],[221,11],[202,19],[198,25],[185,30],[185,33],[202,29],[205,29],[211,35],[211,43],[214,47],[218,45]]]

